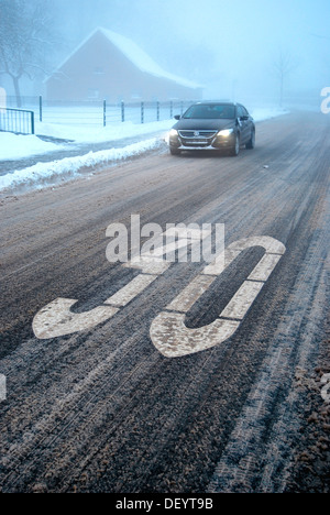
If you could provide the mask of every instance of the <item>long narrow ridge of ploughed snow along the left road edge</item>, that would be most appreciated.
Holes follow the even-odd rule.
[[[0,177],[0,191],[12,190],[19,186],[43,187],[54,184],[58,182],[58,179],[70,179],[77,176],[82,168],[92,168],[96,165],[107,165],[136,156],[152,149],[156,149],[160,144],[161,140],[153,138],[122,149],[89,152],[82,156],[66,157],[51,163],[37,163],[29,168],[20,169]]]

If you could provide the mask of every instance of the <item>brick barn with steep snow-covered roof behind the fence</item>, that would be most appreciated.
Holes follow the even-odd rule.
[[[48,101],[200,100],[202,87],[162,69],[125,36],[96,29],[45,80]]]

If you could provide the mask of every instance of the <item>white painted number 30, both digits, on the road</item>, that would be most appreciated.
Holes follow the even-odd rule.
[[[200,238],[197,238],[199,242]],[[189,244],[193,245],[196,240],[193,237]],[[208,326],[188,328],[185,324],[187,311],[241,252],[253,246],[262,246],[265,253],[219,317]],[[157,255],[166,254],[165,246],[156,250]],[[240,327],[285,250],[283,243],[266,235],[242,239],[229,245],[152,321],[150,336],[155,348],[167,358],[177,358],[210,349],[230,338]],[[90,311],[75,314],[70,308],[77,303],[76,299],[55,299],[33,319],[36,338],[50,339],[90,330],[109,320],[164,274],[170,263],[152,260],[150,256],[144,259],[142,254],[122,266],[138,269],[141,274],[105,300],[102,306]]]

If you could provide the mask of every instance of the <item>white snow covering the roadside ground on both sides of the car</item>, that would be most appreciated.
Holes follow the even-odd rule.
[[[251,113],[256,122],[280,114],[288,111],[284,109],[254,109]],[[124,138],[136,135],[151,134],[152,132],[164,131],[164,135],[175,123],[174,120],[165,120],[161,122],[151,122],[144,124],[134,124],[132,122],[116,123],[106,128],[88,128],[79,125],[59,125],[46,124],[38,122],[36,132],[42,135],[74,140],[75,143],[86,142],[107,142],[116,141]],[[140,155],[161,144],[160,138],[147,140],[141,139],[139,143],[134,143],[121,149],[112,147],[106,151],[89,152],[86,155],[78,157],[66,157],[59,161],[48,163],[36,163],[29,168],[12,171],[3,176],[0,176],[0,191],[14,191],[20,186],[42,187],[48,184],[54,184],[56,179],[70,179],[79,174],[84,168],[95,167],[102,164],[111,164],[118,161]],[[35,135],[16,135],[11,133],[0,132],[0,161],[19,160],[21,157],[34,156],[41,153],[48,153],[67,146],[55,143],[44,142]]]

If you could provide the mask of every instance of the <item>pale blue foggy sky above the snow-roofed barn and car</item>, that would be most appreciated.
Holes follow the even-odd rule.
[[[54,0],[73,50],[96,26],[131,37],[166,70],[201,81],[206,97],[276,95],[330,86],[330,0]],[[72,47],[70,47],[72,45]]]

